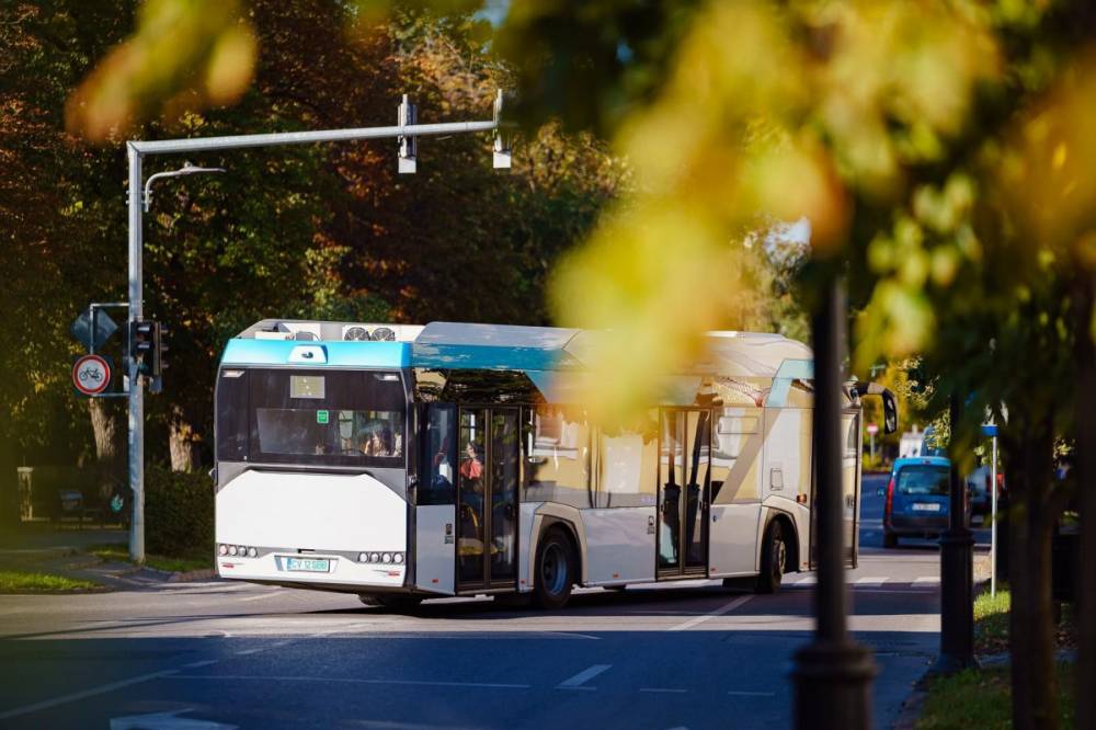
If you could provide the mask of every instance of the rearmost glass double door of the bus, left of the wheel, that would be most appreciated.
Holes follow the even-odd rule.
[[[457,589],[517,582],[516,408],[461,408],[457,468]]]

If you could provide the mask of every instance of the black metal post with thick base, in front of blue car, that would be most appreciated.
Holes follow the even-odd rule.
[[[959,398],[950,402],[951,443],[960,418]],[[951,450],[948,531],[940,535],[940,657],[933,666],[941,674],[977,664],[974,660],[974,534],[967,529],[959,464]],[[996,488],[996,484],[994,484]]]

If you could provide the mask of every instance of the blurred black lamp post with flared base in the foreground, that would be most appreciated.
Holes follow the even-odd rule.
[[[848,636],[841,410],[845,292],[831,274],[813,317],[814,459],[818,465],[818,588],[814,639],[796,652],[795,727],[871,727],[871,650]]]

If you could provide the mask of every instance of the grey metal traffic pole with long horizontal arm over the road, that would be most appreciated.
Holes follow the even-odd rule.
[[[126,144],[129,156],[129,332],[134,323],[144,319],[141,292],[141,162],[146,156],[178,155],[183,152],[213,152],[251,147],[276,147],[284,145],[309,145],[316,142],[354,141],[362,139],[399,139],[401,151],[418,137],[454,135],[461,133],[493,132],[495,135],[493,166],[510,167],[510,149],[504,144],[501,132],[502,92],[494,101],[494,115],[482,122],[448,122],[445,124],[403,124],[414,119],[413,110],[400,106],[398,119],[391,127],[359,127],[356,129],[327,129],[321,132],[285,132],[263,135],[236,135],[231,137],[204,137],[196,139],[162,139],[156,141],[133,140]],[[404,170],[401,166],[401,172]],[[130,343],[132,344],[132,343]],[[140,363],[133,356],[129,344],[127,372],[129,375],[129,489],[133,491],[133,522],[129,533],[129,555],[135,562],[145,561],[145,390],[141,384]]]

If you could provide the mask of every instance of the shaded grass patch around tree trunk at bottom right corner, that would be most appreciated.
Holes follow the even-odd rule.
[[[1058,707],[1061,728],[1074,726],[1073,664],[1058,665]],[[945,728],[1012,728],[1009,670],[967,670],[932,680],[917,720],[917,730]]]

